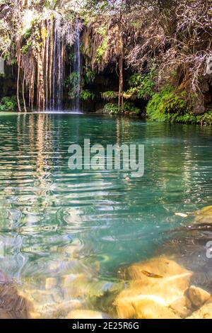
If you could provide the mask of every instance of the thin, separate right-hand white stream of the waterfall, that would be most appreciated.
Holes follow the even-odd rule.
[[[76,21],[76,41],[74,43],[73,72],[76,73],[76,94],[74,98],[74,111],[80,111],[80,90],[81,90],[81,51],[80,51],[81,22]]]

